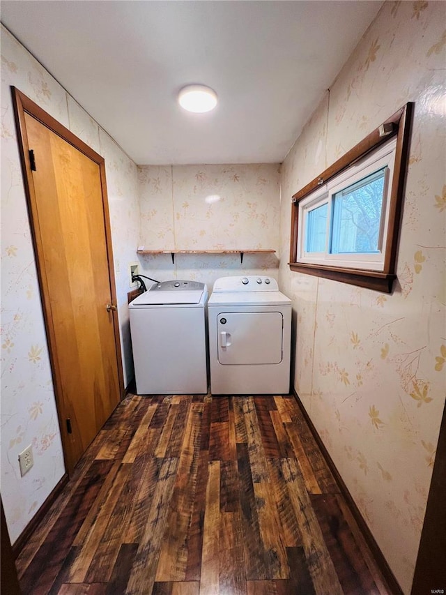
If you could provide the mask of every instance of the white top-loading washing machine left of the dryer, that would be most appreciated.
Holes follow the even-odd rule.
[[[207,299],[204,283],[174,280],[129,304],[139,395],[207,393]]]

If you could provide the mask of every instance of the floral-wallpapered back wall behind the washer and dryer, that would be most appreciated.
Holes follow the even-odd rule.
[[[279,165],[138,167],[139,246],[146,250],[259,250],[279,248]],[[206,283],[226,275],[277,278],[277,254],[139,256],[148,276]],[[151,274],[152,273],[152,274]]]

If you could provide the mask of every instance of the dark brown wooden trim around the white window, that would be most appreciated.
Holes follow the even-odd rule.
[[[367,137],[339,158],[333,165],[330,165],[324,172],[314,178],[306,186],[293,195],[291,204],[291,241],[290,241],[290,262],[291,271],[306,273],[317,277],[349,283],[359,287],[367,287],[384,293],[392,293],[394,279],[397,278],[397,248],[399,239],[399,226],[403,206],[405,190],[406,171],[408,165],[410,130],[413,119],[414,103],[406,103],[401,110],[390,116],[381,126],[378,126]],[[380,135],[380,128],[390,128],[390,133]],[[296,262],[298,253],[298,215],[299,202],[312,193],[322,183],[344,170],[351,167],[358,160],[362,159],[378,146],[397,136],[397,147],[395,149],[394,172],[392,176],[392,188],[390,191],[390,212],[389,225],[387,228],[387,243],[383,271],[369,271],[367,269],[351,269],[339,266],[307,264]]]

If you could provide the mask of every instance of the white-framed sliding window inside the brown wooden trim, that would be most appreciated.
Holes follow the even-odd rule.
[[[300,201],[296,262],[383,271],[397,140]]]

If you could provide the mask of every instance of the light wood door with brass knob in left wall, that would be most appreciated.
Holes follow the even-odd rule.
[[[22,114],[23,124],[40,289],[71,472],[120,400],[105,180],[98,159],[30,113]]]

